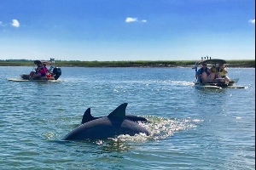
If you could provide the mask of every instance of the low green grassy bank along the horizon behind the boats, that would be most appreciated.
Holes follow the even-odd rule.
[[[255,59],[226,60],[229,67],[255,68]],[[0,66],[33,66],[33,60],[9,59],[0,60]],[[192,67],[195,60],[156,60],[156,61],[64,61],[55,60],[56,66],[78,67]]]

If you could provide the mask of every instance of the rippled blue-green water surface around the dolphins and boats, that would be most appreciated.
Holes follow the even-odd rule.
[[[9,82],[0,67],[2,169],[255,169],[255,69],[230,68],[243,89],[196,89],[191,68],[63,67],[60,82]],[[69,142],[93,116],[148,118],[150,136]]]

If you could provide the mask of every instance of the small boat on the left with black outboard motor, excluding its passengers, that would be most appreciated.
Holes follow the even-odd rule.
[[[61,68],[55,67],[55,59],[45,60],[34,60],[34,72],[36,72],[38,65],[45,66],[47,74],[43,77],[32,77],[31,74],[21,74],[21,78],[9,78],[9,81],[13,82],[57,82],[58,78],[61,77]],[[49,69],[47,68],[49,67]]]

